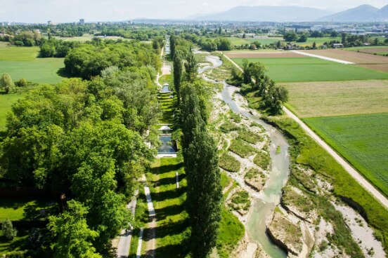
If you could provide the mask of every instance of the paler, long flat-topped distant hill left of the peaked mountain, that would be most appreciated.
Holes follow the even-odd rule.
[[[188,20],[236,22],[309,22],[332,12],[299,6],[238,6],[221,13],[211,13]]]

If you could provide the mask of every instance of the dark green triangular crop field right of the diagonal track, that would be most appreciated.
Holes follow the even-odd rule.
[[[304,121],[388,196],[388,114],[306,118]]]

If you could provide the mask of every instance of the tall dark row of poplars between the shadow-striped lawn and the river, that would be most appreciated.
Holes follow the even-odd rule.
[[[172,35],[170,47],[188,182],[186,210],[191,228],[190,254],[194,258],[205,258],[216,246],[222,198],[218,151],[207,130],[208,99],[212,90],[198,78],[198,63],[190,43]]]

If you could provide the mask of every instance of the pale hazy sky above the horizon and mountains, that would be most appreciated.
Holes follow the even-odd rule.
[[[303,6],[344,11],[361,4],[377,8],[387,0],[0,0],[0,22],[122,21],[181,19],[235,6]]]

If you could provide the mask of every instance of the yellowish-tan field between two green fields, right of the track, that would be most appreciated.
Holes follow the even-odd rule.
[[[287,83],[301,118],[388,112],[388,80]]]

